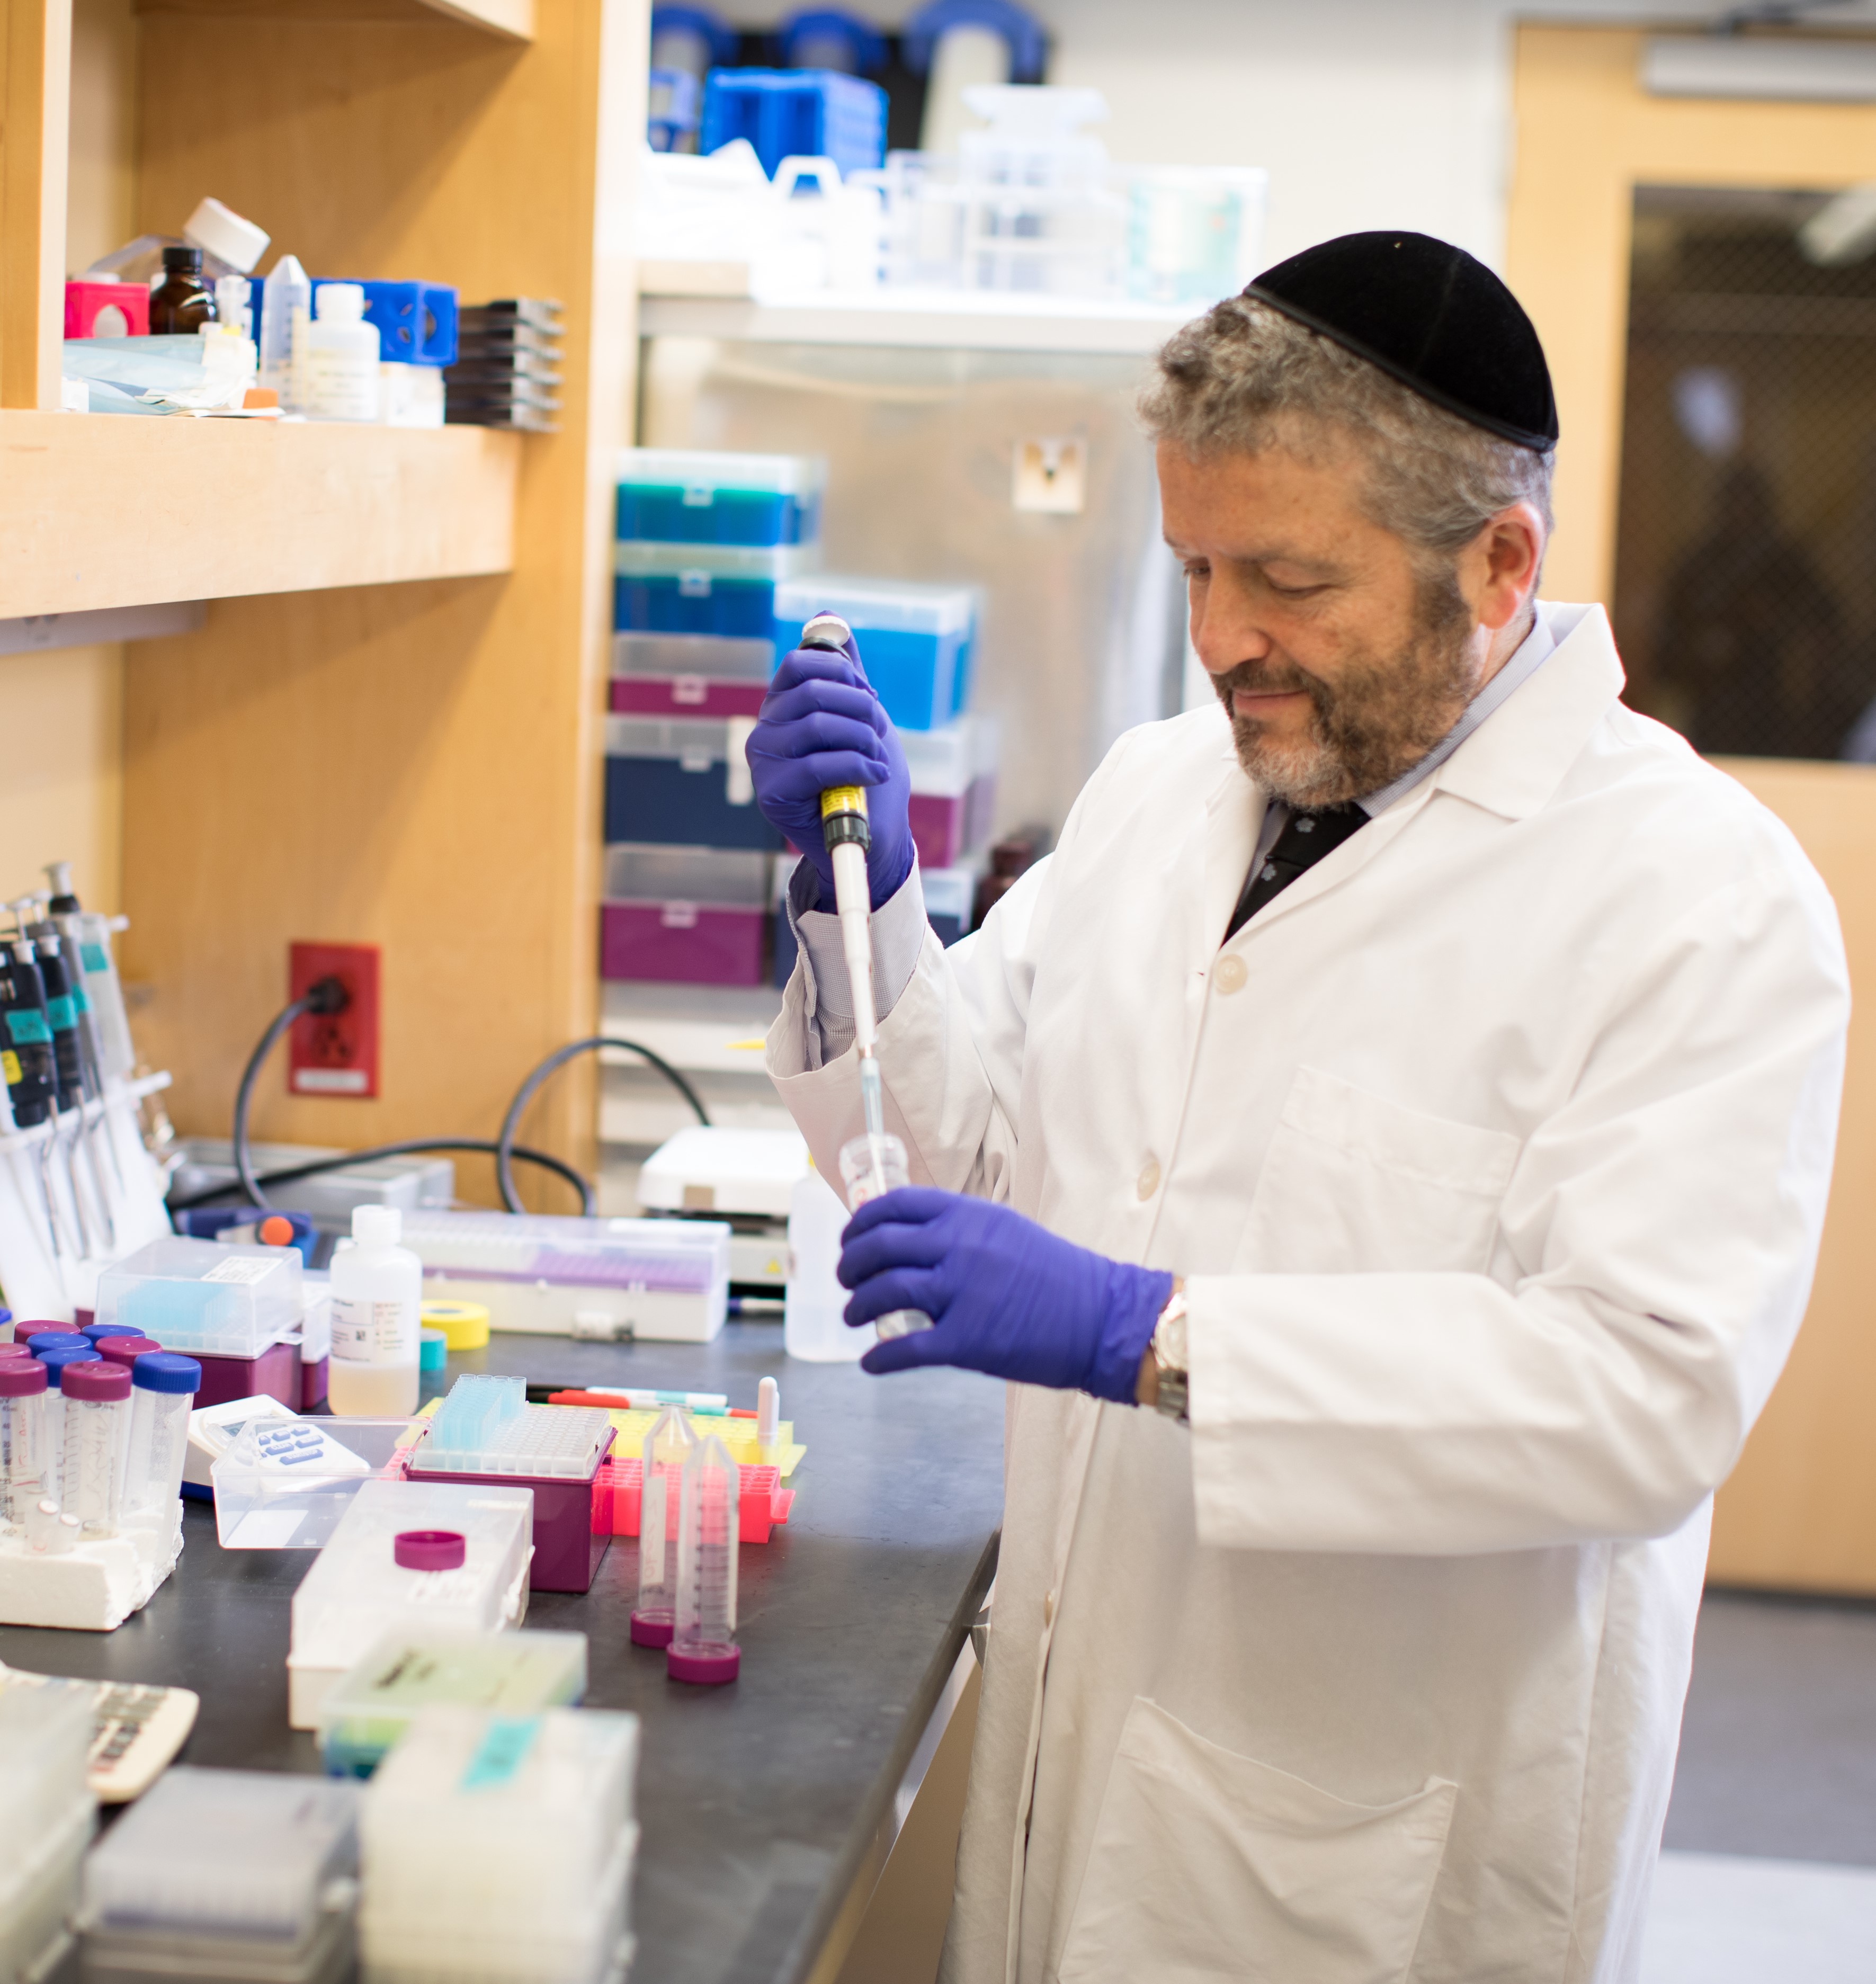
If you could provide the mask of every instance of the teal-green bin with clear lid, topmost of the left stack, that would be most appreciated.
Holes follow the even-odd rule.
[[[656,544],[813,544],[827,462],[819,454],[625,448],[621,540]]]

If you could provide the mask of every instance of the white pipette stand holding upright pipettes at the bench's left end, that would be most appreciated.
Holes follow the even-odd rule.
[[[171,1230],[137,1127],[137,1105],[167,1087],[167,1073],[111,1079],[97,1101],[32,1129],[14,1129],[0,1089],[0,1286],[14,1315],[89,1315],[97,1276]]]

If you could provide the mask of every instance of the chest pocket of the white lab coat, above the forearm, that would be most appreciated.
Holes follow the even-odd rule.
[[[1257,1274],[1479,1272],[1517,1137],[1426,1115],[1299,1067],[1251,1198]]]

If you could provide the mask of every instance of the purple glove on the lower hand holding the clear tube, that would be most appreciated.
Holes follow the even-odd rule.
[[[1130,1405],[1172,1276],[1091,1254],[988,1198],[904,1186],[855,1212],[841,1242],[849,1325],[922,1309],[869,1371],[950,1363]]]

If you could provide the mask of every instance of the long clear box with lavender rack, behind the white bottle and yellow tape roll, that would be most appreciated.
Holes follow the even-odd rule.
[[[424,1294],[480,1302],[496,1329],[710,1343],[730,1300],[720,1220],[412,1212]]]

